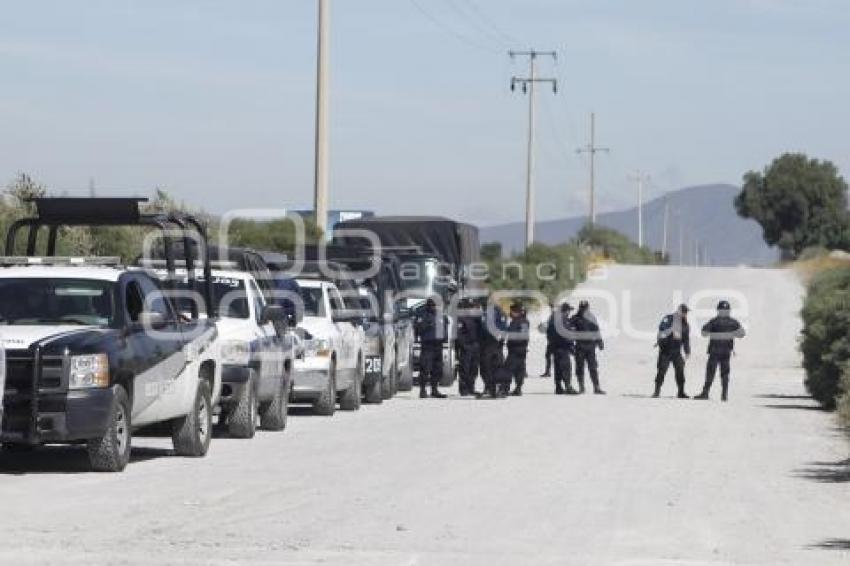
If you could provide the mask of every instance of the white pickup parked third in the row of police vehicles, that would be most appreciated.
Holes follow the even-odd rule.
[[[336,285],[298,278],[304,303],[299,325],[303,352],[295,360],[292,400],[311,402],[318,415],[360,408],[365,335],[360,317],[346,309]],[[361,314],[362,316],[362,314]]]

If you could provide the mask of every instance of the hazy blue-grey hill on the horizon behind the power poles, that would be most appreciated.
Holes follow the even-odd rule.
[[[733,185],[702,185],[668,193],[670,222],[668,251],[672,263],[679,263],[679,222],[684,230],[684,263],[694,262],[698,241],[712,265],[770,265],[779,253],[764,243],[761,227],[744,220],[735,212],[733,200],[740,192]],[[678,214],[678,216],[677,216]],[[637,241],[637,207],[597,216],[597,223],[613,228]],[[535,239],[544,244],[565,242],[584,226],[586,217],[538,222]],[[644,205],[644,244],[662,249],[664,232],[664,197]],[[481,228],[482,242],[501,242],[506,252],[521,249],[525,242],[525,224],[512,223]],[[704,263],[705,261],[703,261]]]

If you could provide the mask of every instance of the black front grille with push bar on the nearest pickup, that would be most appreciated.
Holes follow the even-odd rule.
[[[39,350],[6,352],[2,436],[9,441],[37,440],[39,393],[63,390],[63,358],[41,357]]]

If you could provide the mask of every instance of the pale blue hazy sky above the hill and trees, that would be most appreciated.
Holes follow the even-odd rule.
[[[510,48],[556,49],[539,93],[538,217],[737,183],[783,151],[850,170],[844,0],[331,0],[331,203],[520,220],[526,99]],[[314,0],[2,1],[0,182],[159,186],[212,212],[312,200]]]

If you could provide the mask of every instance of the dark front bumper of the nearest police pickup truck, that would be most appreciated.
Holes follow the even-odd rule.
[[[100,438],[109,428],[114,398],[111,388],[40,395],[35,435],[14,432],[22,423],[7,420],[0,439],[12,444],[47,444]]]

